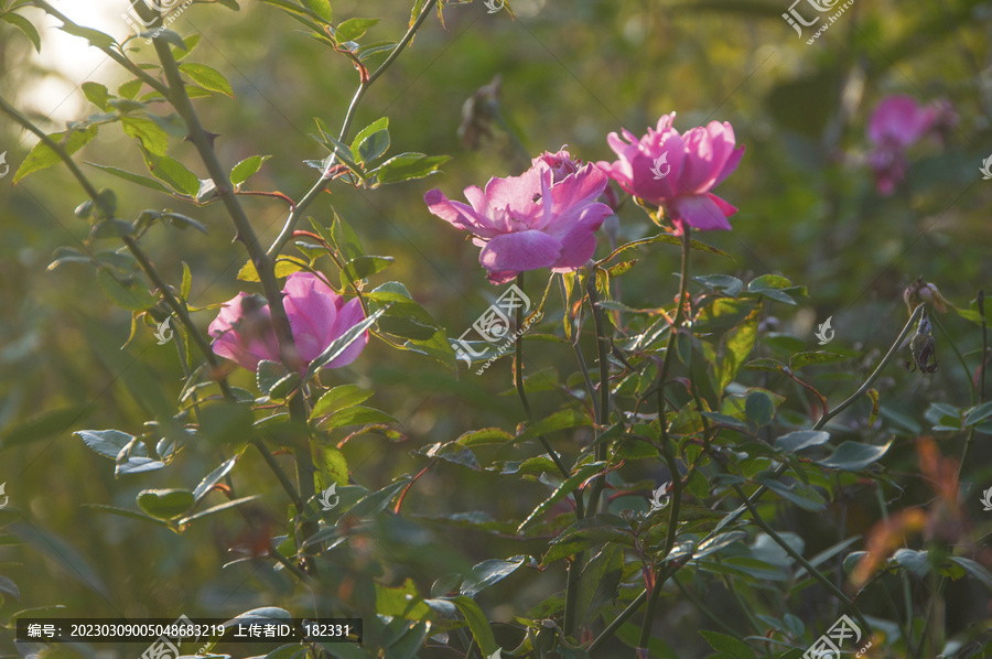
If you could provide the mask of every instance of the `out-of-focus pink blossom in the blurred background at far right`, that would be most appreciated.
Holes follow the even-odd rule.
[[[923,107],[912,96],[896,94],[878,102],[867,122],[867,139],[872,144],[867,163],[878,193],[891,195],[906,179],[909,147],[926,136],[942,141],[942,134],[956,122],[953,108],[944,99],[932,107]]]

